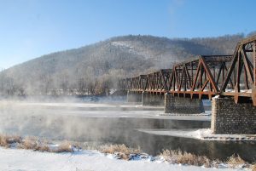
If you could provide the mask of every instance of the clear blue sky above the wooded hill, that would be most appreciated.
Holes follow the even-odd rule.
[[[256,30],[255,0],[0,0],[0,68],[109,37]]]

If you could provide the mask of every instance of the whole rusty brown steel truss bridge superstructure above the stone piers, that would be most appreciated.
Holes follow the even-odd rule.
[[[230,96],[256,106],[256,35],[241,40],[233,55],[199,55],[170,69],[119,80],[119,88],[191,99]]]

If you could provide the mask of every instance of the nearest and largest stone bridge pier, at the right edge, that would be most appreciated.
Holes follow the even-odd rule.
[[[256,107],[232,98],[212,98],[212,134],[256,134]]]

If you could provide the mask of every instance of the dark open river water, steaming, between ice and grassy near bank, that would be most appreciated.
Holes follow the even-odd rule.
[[[210,128],[210,121],[207,120],[120,117],[124,111],[116,111],[117,117],[113,117],[113,115],[112,117],[84,117],[79,114],[61,115],[61,112],[65,113],[66,110],[35,106],[2,106],[0,130],[5,134],[35,135],[52,140],[101,141],[125,144],[131,147],[140,146],[144,152],[151,155],[157,155],[163,149],[180,149],[205,155],[212,159],[226,159],[234,153],[239,154],[249,162],[256,159],[256,145],[253,142],[201,141],[147,134],[137,130],[138,128]],[[108,111],[96,112],[99,114],[108,113]]]

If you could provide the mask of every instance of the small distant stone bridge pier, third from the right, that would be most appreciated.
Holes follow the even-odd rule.
[[[164,105],[164,96],[162,94],[148,94],[143,92],[143,105]]]

